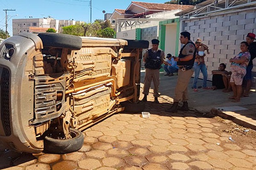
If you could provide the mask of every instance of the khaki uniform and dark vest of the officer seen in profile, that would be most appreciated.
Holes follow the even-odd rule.
[[[179,66],[178,71],[178,79],[177,79],[177,85],[175,88],[175,98],[173,99],[174,102],[187,102],[188,101],[188,84],[189,80],[192,77],[192,74],[194,72],[193,65],[195,61],[195,44],[189,40],[186,45],[184,45],[180,49],[179,58],[186,57],[189,54],[193,55],[193,58],[189,61],[178,61],[177,65]]]

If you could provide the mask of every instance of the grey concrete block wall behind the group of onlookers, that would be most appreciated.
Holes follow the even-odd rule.
[[[245,40],[248,32],[256,33],[256,9],[193,18],[181,23],[182,31],[191,33],[191,40],[200,38],[208,45],[210,54],[205,61],[208,79],[212,79],[211,71],[218,69],[222,62],[230,71],[229,59],[240,52],[240,42]]]

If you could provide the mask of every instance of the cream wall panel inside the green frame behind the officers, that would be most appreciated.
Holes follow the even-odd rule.
[[[175,55],[177,23],[166,25],[165,54]]]

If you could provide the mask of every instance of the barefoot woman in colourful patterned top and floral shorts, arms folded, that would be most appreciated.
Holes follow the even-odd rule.
[[[246,74],[246,67],[250,60],[250,52],[248,51],[249,44],[246,41],[241,42],[241,52],[234,58],[230,59],[231,62],[231,78],[230,84],[233,90],[233,96],[229,99],[235,99],[232,102],[240,102],[242,94],[242,82]]]

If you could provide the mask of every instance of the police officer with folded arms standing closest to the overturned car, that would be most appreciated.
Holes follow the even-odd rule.
[[[158,94],[158,88],[160,84],[159,78],[159,69],[164,61],[164,52],[158,49],[159,40],[153,39],[152,48],[148,49],[143,56],[143,62],[145,62],[145,80],[144,80],[144,88],[143,94],[144,97],[142,99],[143,102],[147,101],[147,95],[149,92],[149,88],[151,85],[151,80],[153,79],[154,83],[154,102],[159,103],[157,97],[160,95]]]

